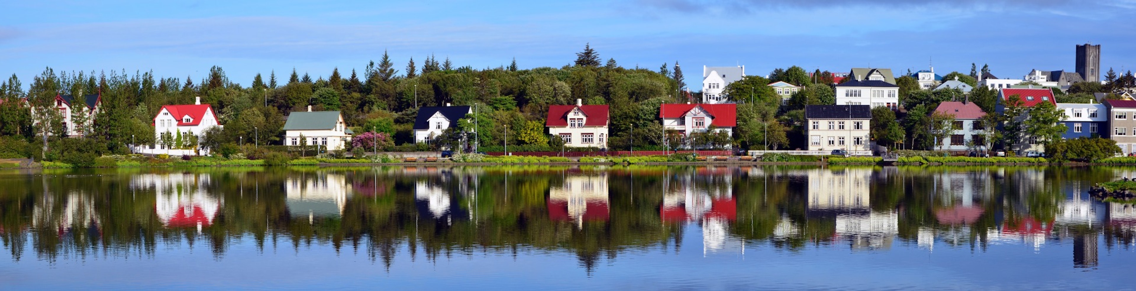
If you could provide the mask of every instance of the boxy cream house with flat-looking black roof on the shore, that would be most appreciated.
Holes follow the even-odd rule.
[[[845,149],[850,154],[871,154],[868,105],[807,105],[804,136],[808,151]]]

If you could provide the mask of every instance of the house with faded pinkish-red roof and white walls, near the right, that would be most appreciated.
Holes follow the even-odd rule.
[[[935,112],[954,115],[953,131],[943,140],[938,140],[939,151],[966,152],[985,147],[986,140],[982,135],[985,128],[978,119],[985,117],[986,112],[977,104],[968,101],[947,101],[938,103]]]

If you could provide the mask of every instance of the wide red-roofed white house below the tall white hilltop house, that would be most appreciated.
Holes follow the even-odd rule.
[[[662,104],[659,109],[662,127],[690,135],[715,126],[733,135],[737,127],[737,104]]]

